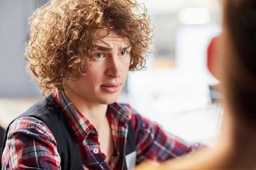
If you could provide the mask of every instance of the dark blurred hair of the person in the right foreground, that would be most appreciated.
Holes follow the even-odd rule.
[[[224,27],[234,51],[227,55],[235,54],[222,56],[233,63],[225,70],[225,90],[234,116],[256,125],[256,0],[224,1]]]

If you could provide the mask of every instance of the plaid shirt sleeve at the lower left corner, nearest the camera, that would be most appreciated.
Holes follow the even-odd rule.
[[[60,162],[56,140],[44,122],[22,117],[10,125],[3,169],[60,170]]]

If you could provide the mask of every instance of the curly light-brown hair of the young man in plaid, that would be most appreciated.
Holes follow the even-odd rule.
[[[130,71],[145,67],[151,54],[153,25],[145,6],[133,0],[52,0],[29,18],[27,71],[43,95],[62,89],[62,79],[86,75],[99,28],[131,43]]]

